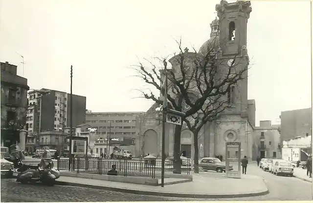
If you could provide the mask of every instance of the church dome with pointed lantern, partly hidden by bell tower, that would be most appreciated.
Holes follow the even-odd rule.
[[[212,23],[210,23],[211,34],[210,39],[204,42],[199,50],[199,54],[206,55],[208,51],[217,51],[220,48],[220,22],[215,18]]]

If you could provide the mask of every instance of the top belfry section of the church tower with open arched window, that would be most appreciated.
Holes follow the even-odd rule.
[[[252,8],[250,1],[238,0],[228,3],[221,0],[215,10],[220,21],[220,47],[223,55],[241,54],[246,48],[247,21]]]

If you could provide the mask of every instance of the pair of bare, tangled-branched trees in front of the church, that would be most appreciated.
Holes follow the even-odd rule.
[[[167,99],[169,108],[185,113],[183,122],[193,133],[194,140],[194,168],[199,172],[199,132],[207,122],[213,122],[221,117],[223,111],[234,105],[231,92],[233,87],[246,79],[249,65],[249,58],[246,55],[246,47],[241,48],[240,56],[233,55],[231,58],[223,58],[221,41],[214,40],[202,50],[202,53],[188,52],[182,50],[181,41],[177,41],[179,54],[169,61],[172,69],[164,73],[166,68],[165,58],[158,58],[162,61],[163,67],[152,68],[139,63],[137,66],[138,76],[145,83],[154,86],[162,92],[163,74],[168,74],[169,85]],[[216,43],[216,44],[215,44]],[[223,44],[224,45],[224,44]],[[229,60],[231,59],[231,60]],[[227,64],[228,63],[228,64]],[[160,74],[157,73],[160,69]],[[152,91],[140,90],[144,98],[151,99],[158,104],[163,103],[162,97],[157,97]],[[174,170],[180,173],[180,133],[181,126],[176,126],[174,135]]]

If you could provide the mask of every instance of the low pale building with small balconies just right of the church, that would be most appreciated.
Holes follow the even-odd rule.
[[[271,125],[271,121],[260,121],[260,127],[253,129],[252,160],[261,158],[281,159],[279,125]]]

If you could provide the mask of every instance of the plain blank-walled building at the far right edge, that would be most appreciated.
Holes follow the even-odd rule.
[[[282,140],[312,135],[312,108],[282,111],[280,119]]]

